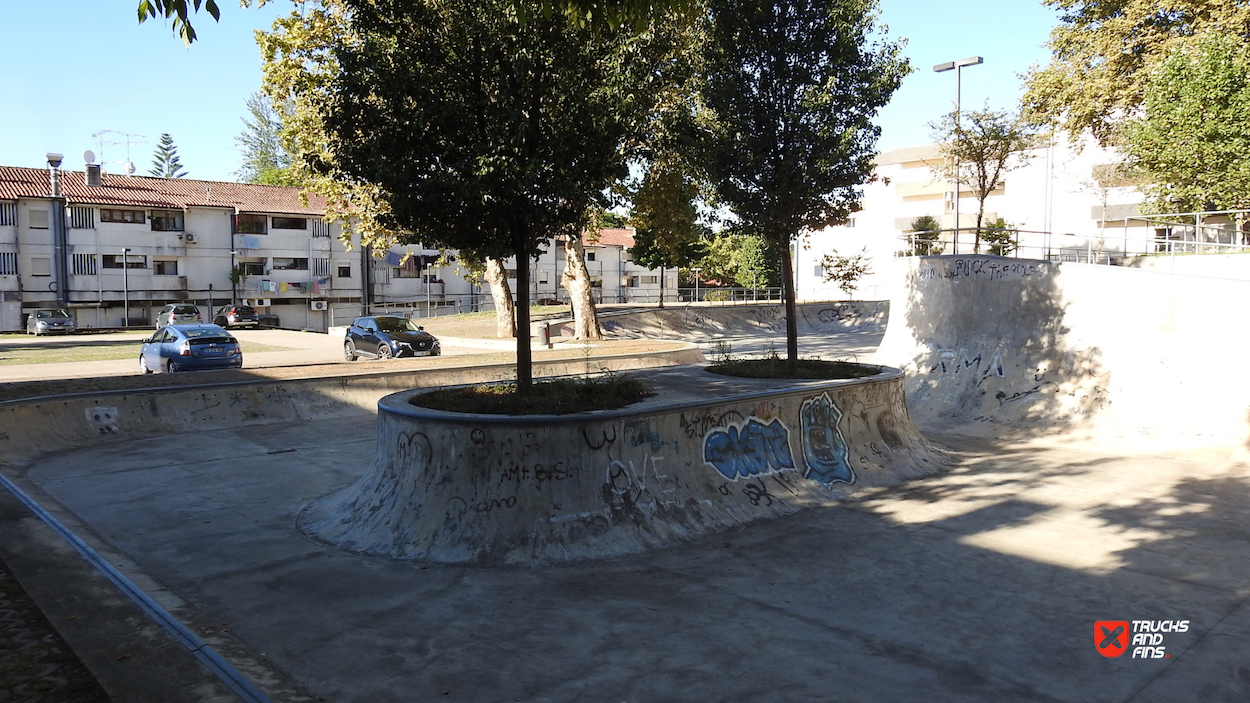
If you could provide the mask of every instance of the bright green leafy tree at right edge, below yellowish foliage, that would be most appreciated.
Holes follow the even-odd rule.
[[[1210,33],[1151,71],[1122,146],[1156,211],[1250,208],[1250,46]]]

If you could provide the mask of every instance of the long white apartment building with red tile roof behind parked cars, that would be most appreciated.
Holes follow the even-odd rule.
[[[80,328],[114,328],[149,326],[169,303],[210,319],[238,301],[269,324],[312,330],[379,311],[491,308],[489,288],[455,263],[432,265],[439,251],[375,251],[359,240],[349,249],[324,214],[324,201],[301,201],[298,188],[0,166],[0,330],[25,329],[26,314],[50,306]],[[676,298],[676,270],[629,258],[631,230],[585,244],[598,301],[655,301],[661,280]],[[562,269],[556,243],[534,264],[531,300],[568,301]]]

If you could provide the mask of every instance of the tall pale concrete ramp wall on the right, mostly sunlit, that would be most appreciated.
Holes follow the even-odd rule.
[[[912,259],[875,363],[926,429],[1244,443],[1250,283],[999,256]]]

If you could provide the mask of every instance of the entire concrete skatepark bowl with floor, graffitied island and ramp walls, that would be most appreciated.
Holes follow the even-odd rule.
[[[688,348],[595,417],[409,403],[506,375],[471,362],[0,404],[0,549],[114,700],[1250,698],[1245,339],[1195,304],[1250,284],[891,266],[800,306],[800,352],[888,367],[855,382]]]

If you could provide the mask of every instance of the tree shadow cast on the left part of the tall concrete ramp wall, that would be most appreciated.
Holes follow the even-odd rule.
[[[1059,268],[1000,256],[924,256],[878,360],[909,374],[925,428],[1060,434],[1109,407],[1101,352],[1065,323]]]

